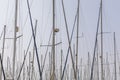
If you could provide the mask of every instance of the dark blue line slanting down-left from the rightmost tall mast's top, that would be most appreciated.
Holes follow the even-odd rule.
[[[92,61],[92,67],[91,67],[90,80],[93,79],[93,68],[94,68],[96,47],[97,47],[97,42],[98,42],[98,40],[97,40],[97,35],[98,35],[98,30],[99,30],[100,13],[101,13],[101,6],[100,6],[100,8],[99,8],[99,14],[98,14],[97,31],[96,31],[96,37],[95,37],[94,54],[93,54],[93,61]]]

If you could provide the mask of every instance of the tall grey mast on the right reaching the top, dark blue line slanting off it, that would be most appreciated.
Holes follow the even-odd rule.
[[[101,80],[104,80],[104,73],[103,73],[103,22],[102,22],[102,0],[101,0]]]

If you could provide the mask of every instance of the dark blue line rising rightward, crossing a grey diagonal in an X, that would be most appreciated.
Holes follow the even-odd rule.
[[[76,22],[76,20],[77,20],[77,13],[76,13],[75,19],[74,19],[74,24],[73,24],[73,28],[72,28],[70,43],[72,42],[72,37],[73,37],[73,33],[74,33],[74,28],[75,28],[75,22]],[[69,55],[69,49],[70,49],[70,47],[68,47],[68,49],[67,49],[67,55],[66,55],[66,59],[65,59],[65,65],[64,65],[64,68],[63,68],[61,80],[63,80],[63,77],[64,77],[64,72],[65,72],[65,69],[66,69],[68,55]]]

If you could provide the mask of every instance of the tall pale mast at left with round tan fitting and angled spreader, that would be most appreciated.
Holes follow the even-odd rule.
[[[15,72],[15,57],[16,57],[16,30],[17,30],[17,13],[18,13],[18,0],[15,0],[15,24],[14,24],[14,42],[13,42],[13,80]]]

